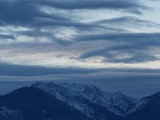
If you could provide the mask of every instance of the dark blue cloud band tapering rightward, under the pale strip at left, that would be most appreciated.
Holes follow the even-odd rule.
[[[59,68],[59,67],[41,67],[41,66],[26,66],[12,65],[0,63],[0,75],[4,76],[43,76],[49,74],[87,74],[103,71],[103,69],[89,68]]]

